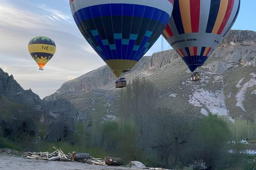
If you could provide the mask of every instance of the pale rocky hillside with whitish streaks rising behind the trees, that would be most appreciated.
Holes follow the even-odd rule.
[[[190,71],[173,50],[142,57],[126,80],[147,78],[158,88],[158,105],[175,110],[189,105],[203,114],[208,112],[244,116],[254,120],[256,101],[256,32],[230,30],[204,65],[197,69],[202,80],[189,81]],[[97,113],[103,119],[118,116],[119,91],[107,65],[62,84],[54,94],[73,104],[79,118],[92,119]]]

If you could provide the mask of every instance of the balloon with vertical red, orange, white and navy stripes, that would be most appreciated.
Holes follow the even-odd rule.
[[[240,0],[174,0],[162,36],[193,72],[226,36],[239,7]]]

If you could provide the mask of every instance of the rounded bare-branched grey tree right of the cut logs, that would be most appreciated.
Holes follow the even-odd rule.
[[[148,146],[155,149],[164,160],[164,167],[169,168],[169,157],[174,159],[173,168],[177,166],[181,145],[186,143],[197,128],[197,116],[191,110],[173,112],[170,108],[158,108],[151,126],[151,141]]]

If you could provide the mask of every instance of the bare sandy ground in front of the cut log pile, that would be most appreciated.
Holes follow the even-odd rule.
[[[49,161],[42,159],[28,159],[20,156],[0,154],[0,170],[9,169],[40,169],[40,170],[83,170],[83,169],[95,169],[95,170],[110,170],[110,169],[124,169],[124,170],[139,170],[142,168],[128,168],[123,166],[103,166],[94,165],[79,162],[59,162]]]

